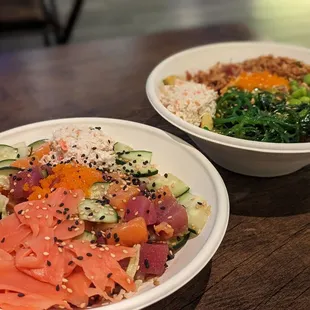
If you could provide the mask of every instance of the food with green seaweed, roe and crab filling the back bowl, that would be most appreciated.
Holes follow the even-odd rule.
[[[188,91],[195,83],[200,85],[199,96]],[[217,63],[206,72],[168,76],[160,100],[183,120],[226,136],[275,143],[310,141],[310,65],[295,59],[260,56]],[[208,110],[201,108],[206,105]]]

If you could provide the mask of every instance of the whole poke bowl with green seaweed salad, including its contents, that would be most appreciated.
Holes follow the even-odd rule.
[[[310,164],[310,51],[270,42],[191,48],[158,64],[153,108],[218,165],[276,177]]]

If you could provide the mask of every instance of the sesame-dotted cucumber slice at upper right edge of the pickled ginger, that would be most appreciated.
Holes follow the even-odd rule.
[[[97,223],[117,223],[118,214],[108,204],[97,199],[85,199],[79,204],[81,220]]]

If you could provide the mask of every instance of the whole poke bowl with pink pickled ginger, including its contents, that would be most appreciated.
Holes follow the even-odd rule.
[[[225,234],[220,175],[164,131],[71,118],[0,142],[4,310],[142,309],[192,279]]]

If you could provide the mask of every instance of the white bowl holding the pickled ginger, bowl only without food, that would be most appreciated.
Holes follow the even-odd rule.
[[[101,126],[117,141],[136,149],[153,151],[160,172],[172,172],[184,180],[193,193],[205,197],[212,206],[211,216],[201,234],[190,240],[169,263],[161,284],[145,287],[134,297],[99,307],[105,310],[138,310],[173,293],[190,281],[212,258],[226,231],[229,217],[228,194],[212,164],[195,148],[159,129],[139,123],[105,118],[71,118],[34,123],[0,133],[0,143],[31,143],[50,138],[52,131],[67,124]]]

